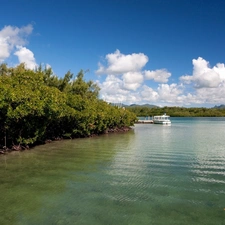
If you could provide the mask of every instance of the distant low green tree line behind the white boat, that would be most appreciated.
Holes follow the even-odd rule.
[[[136,114],[138,117],[146,117],[146,116],[155,116],[162,115],[164,113],[172,116],[172,117],[224,117],[225,109],[224,108],[205,108],[205,107],[126,107],[129,111]]]

